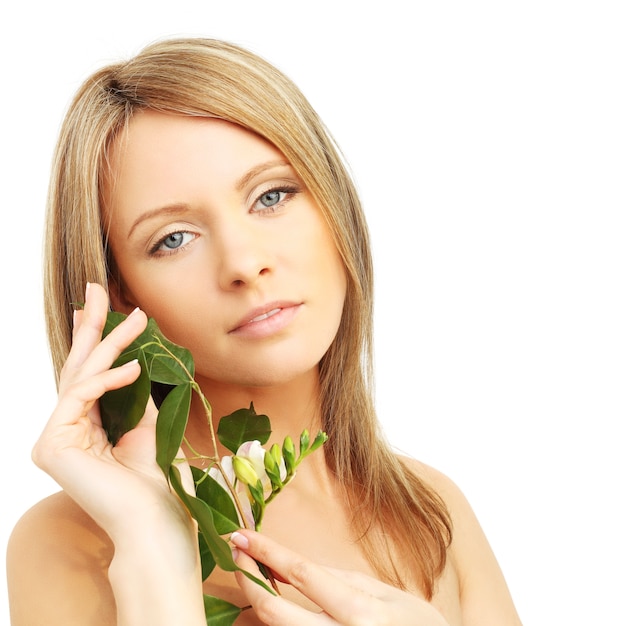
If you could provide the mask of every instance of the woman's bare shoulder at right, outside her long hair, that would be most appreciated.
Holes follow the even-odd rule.
[[[415,459],[402,463],[443,499],[452,518],[448,557],[458,580],[466,626],[520,626],[511,594],[487,537],[459,487],[442,472]]]

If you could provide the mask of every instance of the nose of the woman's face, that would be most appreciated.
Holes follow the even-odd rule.
[[[222,224],[214,233],[218,281],[224,290],[256,286],[272,271],[270,243],[246,220]]]

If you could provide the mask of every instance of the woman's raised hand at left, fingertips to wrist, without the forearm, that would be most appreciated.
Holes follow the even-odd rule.
[[[129,513],[137,508],[137,498],[138,504],[146,504],[147,499],[162,498],[168,489],[155,462],[156,408],[152,403],[137,428],[115,448],[102,428],[99,398],[132,383],[140,372],[136,362],[115,369],[111,365],[147,322],[145,314],[135,310],[103,341],[107,310],[104,289],[88,286],[85,307],[75,313],[72,349],[61,372],[58,403],[35,444],[33,460],[115,541],[118,530],[128,531]]]

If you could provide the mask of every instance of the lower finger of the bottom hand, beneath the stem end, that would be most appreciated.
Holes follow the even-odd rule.
[[[261,578],[262,574],[254,559],[243,551],[235,552],[235,562],[239,567]],[[326,626],[337,622],[319,609],[316,612],[309,611],[286,598],[273,595],[263,587],[250,580],[242,572],[235,572],[237,582],[245,593],[248,602],[252,605],[256,616],[264,623],[271,626]]]

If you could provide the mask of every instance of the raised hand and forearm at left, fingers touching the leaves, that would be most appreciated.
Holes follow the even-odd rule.
[[[58,403],[33,460],[111,538],[109,580],[120,626],[205,624],[197,530],[156,463],[156,407],[150,402],[115,447],[102,428],[99,398],[140,373],[136,362],[111,366],[147,323],[136,309],[103,340],[107,311],[104,289],[88,286],[85,307],[75,314]],[[188,466],[180,469],[189,486]]]

